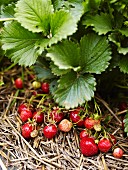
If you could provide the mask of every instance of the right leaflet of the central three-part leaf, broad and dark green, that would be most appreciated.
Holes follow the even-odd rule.
[[[111,51],[104,36],[88,34],[80,41],[81,63],[83,72],[100,74],[109,65]]]

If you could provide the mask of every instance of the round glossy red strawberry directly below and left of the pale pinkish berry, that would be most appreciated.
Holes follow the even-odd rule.
[[[57,134],[57,127],[54,124],[49,124],[43,128],[44,136],[52,139]]]

